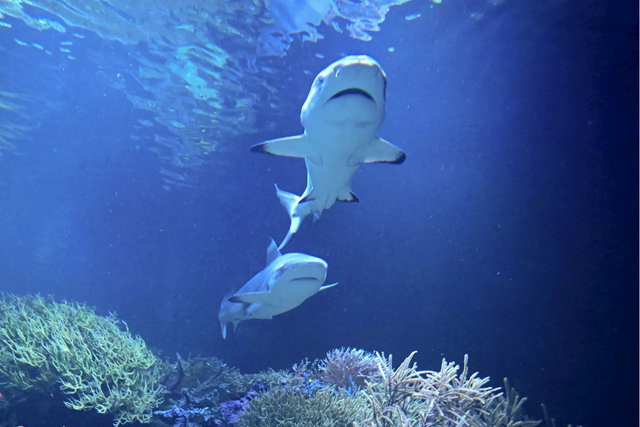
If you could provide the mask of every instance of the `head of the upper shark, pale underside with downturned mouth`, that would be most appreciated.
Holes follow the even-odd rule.
[[[386,92],[387,75],[375,59],[366,55],[346,56],[316,76],[300,120],[307,130],[314,127],[314,122],[336,118],[381,123],[385,117]]]

